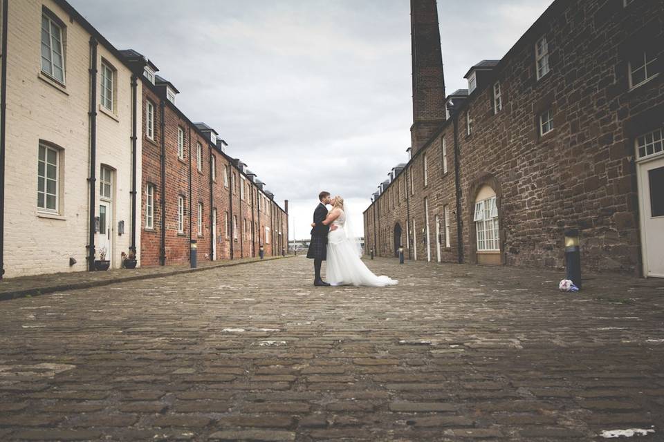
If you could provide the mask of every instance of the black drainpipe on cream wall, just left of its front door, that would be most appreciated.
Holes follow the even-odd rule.
[[[97,181],[97,40],[90,37],[90,207],[89,207],[89,239],[88,239],[88,270],[95,269],[95,182]],[[3,89],[4,90],[4,89]]]

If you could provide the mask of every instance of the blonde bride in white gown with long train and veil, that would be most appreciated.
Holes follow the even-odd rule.
[[[352,238],[350,222],[344,210],[344,199],[336,196],[332,199],[333,209],[328,213],[323,224],[333,225],[327,236],[327,282],[331,285],[367,285],[385,287],[396,285],[398,280],[371,273],[364,262],[362,247],[357,238]],[[312,227],[315,224],[312,224]]]

